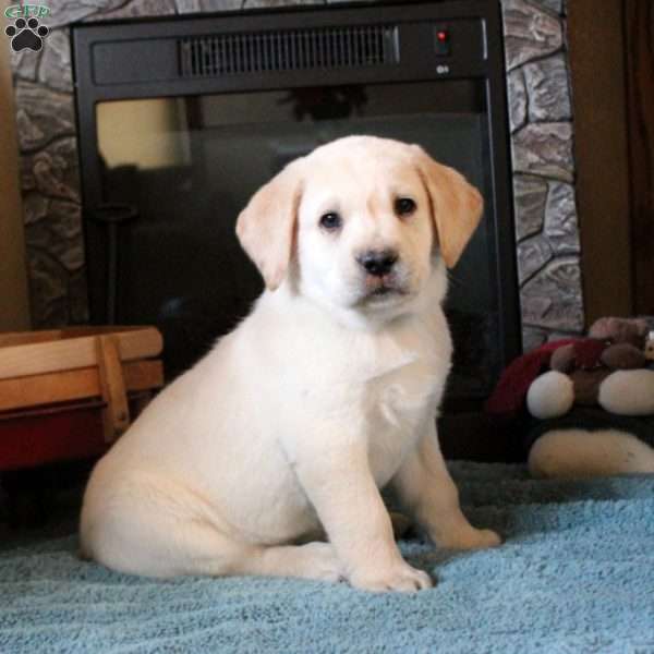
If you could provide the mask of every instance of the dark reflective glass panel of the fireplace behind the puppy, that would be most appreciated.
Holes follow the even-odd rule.
[[[105,203],[135,207],[116,231],[119,323],[158,325],[170,377],[231,330],[262,292],[234,226],[286,164],[348,134],[421,144],[487,198],[450,274],[450,397],[489,391],[500,363],[485,94],[471,81],[371,84],[105,101],[96,108]]]

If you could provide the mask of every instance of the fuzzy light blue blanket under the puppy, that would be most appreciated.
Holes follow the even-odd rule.
[[[402,543],[436,588],[371,595],[281,579],[155,582],[76,557],[74,536],[0,553],[0,652],[654,654],[654,476],[532,481],[458,463],[496,550]]]

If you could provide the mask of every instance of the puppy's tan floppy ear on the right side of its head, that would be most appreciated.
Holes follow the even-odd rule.
[[[411,147],[429,196],[440,254],[453,268],[480,222],[484,201],[461,173],[437,164],[420,146]]]

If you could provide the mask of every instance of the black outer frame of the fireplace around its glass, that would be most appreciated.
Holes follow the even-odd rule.
[[[486,25],[484,34],[485,52],[483,57],[461,57],[456,59],[444,59],[445,63],[451,63],[450,70],[441,74],[440,78],[481,78],[485,80],[487,94],[488,111],[488,137],[492,143],[493,157],[491,159],[489,175],[492,178],[491,187],[493,190],[494,225],[493,233],[495,240],[495,263],[497,266],[498,289],[498,315],[500,319],[500,334],[504,336],[501,342],[497,343],[500,350],[500,361],[507,364],[521,351],[521,331],[520,331],[520,312],[518,300],[518,283],[516,274],[516,252],[514,252],[514,231],[512,219],[512,198],[511,198],[511,171],[509,165],[509,134],[508,134],[508,110],[506,102],[505,86],[505,62],[501,37],[489,38],[488,35],[501,34],[501,15],[499,5],[484,0],[464,0],[457,2],[443,3],[402,3],[387,4],[380,8],[365,7],[361,4],[330,8],[299,8],[249,12],[222,12],[217,14],[204,14],[202,17],[175,16],[171,19],[156,19],[147,22],[131,23],[125,21],[104,22],[100,24],[77,24],[71,29],[73,61],[75,63],[75,101],[77,107],[77,130],[81,135],[78,142],[78,155],[81,170],[84,179],[83,184],[83,206],[84,225],[92,219],[92,215],[97,211],[101,205],[99,167],[97,162],[97,143],[96,143],[96,117],[95,105],[102,100],[138,98],[138,97],[164,97],[179,95],[195,95],[225,93],[230,90],[247,90],[279,87],[298,87],[308,85],[305,71],[283,71],[270,74],[268,72],[253,72],[247,76],[240,75],[218,75],[209,77],[183,77],[179,71],[174,70],[175,61],[170,51],[170,44],[166,44],[161,52],[168,51],[168,62],[161,59],[160,55],[153,56],[153,65],[155,70],[160,71],[159,78],[154,83],[144,83],[138,80],[138,65],[142,63],[138,53],[146,56],[144,45],[146,41],[155,39],[159,46],[162,41],[170,40],[173,37],[186,37],[191,35],[210,35],[220,34],[243,34],[258,31],[293,29],[302,28],[311,24],[312,27],[332,27],[342,24],[353,25],[400,25],[401,28],[409,28],[407,25],[417,21],[428,21],[429,24],[445,21],[452,31],[468,29],[470,23],[460,22],[461,19],[481,19],[480,24]],[[411,23],[409,23],[411,21]],[[414,28],[414,27],[413,27]],[[171,33],[171,29],[173,31]],[[420,34],[412,35],[415,39]],[[465,34],[460,34],[462,39]],[[141,41],[141,45],[140,45]],[[153,41],[150,41],[153,43]],[[420,50],[413,44],[412,39],[404,39],[404,44],[410,44],[402,50],[403,61],[399,62],[392,70],[390,66],[378,64],[371,65],[365,71],[361,68],[350,71],[347,68],[339,70],[316,71],[312,77],[311,85],[328,84],[348,84],[362,83],[362,75],[365,82],[403,82],[410,74],[413,80],[432,78],[436,76],[431,69],[432,62],[423,61],[420,57]],[[123,60],[114,60],[109,66],[104,66],[105,81],[108,80],[108,70],[120,70],[123,76],[120,80],[112,78],[111,83],[98,83],[98,71],[94,70],[94,49],[105,48],[105,59],[107,52],[111,52],[112,45],[129,44],[131,50],[128,56],[131,63]],[[118,55],[120,48],[116,50]],[[480,59],[482,61],[480,61]],[[137,62],[137,65],[134,65]],[[158,63],[155,63],[158,62]],[[129,65],[128,65],[129,64]],[[158,68],[157,68],[158,66]],[[148,71],[152,65],[148,62]],[[100,75],[101,77],[101,75]],[[177,77],[177,78],[175,78]],[[85,230],[87,232],[87,230]],[[101,258],[106,254],[102,252],[97,240],[92,240],[86,233],[85,239],[86,256]],[[90,272],[87,270],[87,274]],[[102,323],[107,319],[106,306],[97,302],[97,298],[102,293],[98,288],[107,288],[107,279],[88,277],[89,287],[89,308],[92,322]],[[95,291],[95,292],[94,292]]]

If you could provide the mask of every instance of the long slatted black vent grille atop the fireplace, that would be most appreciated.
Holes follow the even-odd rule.
[[[389,25],[220,34],[179,40],[182,77],[328,70],[399,63]]]

